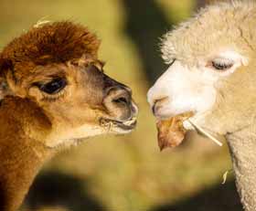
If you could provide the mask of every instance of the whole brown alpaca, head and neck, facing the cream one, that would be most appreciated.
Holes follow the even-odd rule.
[[[102,133],[127,133],[137,108],[102,72],[100,41],[84,26],[31,28],[0,58],[0,210],[15,211],[38,170],[60,148]]]

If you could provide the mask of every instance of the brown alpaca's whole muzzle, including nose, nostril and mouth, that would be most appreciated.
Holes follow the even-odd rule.
[[[112,123],[112,126],[123,131],[131,131],[136,126],[137,106],[132,100],[132,90],[125,85],[112,80],[114,86],[106,91],[103,105],[111,118],[102,119],[103,123]]]

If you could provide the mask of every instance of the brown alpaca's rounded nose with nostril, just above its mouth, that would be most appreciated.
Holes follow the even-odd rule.
[[[117,121],[130,120],[138,111],[132,100],[132,90],[122,85],[107,90],[103,104]]]

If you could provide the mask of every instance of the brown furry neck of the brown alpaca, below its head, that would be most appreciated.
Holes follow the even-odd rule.
[[[29,109],[28,109],[29,108]],[[48,132],[47,118],[37,106],[14,97],[0,106],[0,210],[16,211],[38,170],[53,153],[26,131]],[[33,134],[33,132],[32,132]]]

